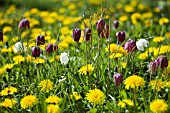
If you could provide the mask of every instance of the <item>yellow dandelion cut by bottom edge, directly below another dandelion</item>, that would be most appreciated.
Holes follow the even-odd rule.
[[[47,106],[48,113],[61,113],[58,105],[50,104]]]

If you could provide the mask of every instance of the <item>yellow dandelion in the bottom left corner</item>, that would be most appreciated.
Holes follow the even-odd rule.
[[[2,103],[0,103],[0,106],[6,107],[6,108],[12,108],[17,103],[15,99],[8,99],[6,98]]]

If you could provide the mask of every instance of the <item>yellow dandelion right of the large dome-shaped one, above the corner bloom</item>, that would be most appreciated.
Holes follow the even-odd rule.
[[[160,91],[161,88],[163,89],[165,87],[165,85],[166,84],[161,79],[152,80],[152,81],[149,82],[149,86],[151,86],[152,89],[155,89],[155,87],[156,87],[156,90],[158,90],[158,91]]]

